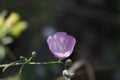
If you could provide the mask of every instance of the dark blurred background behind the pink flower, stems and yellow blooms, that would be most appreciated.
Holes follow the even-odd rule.
[[[73,35],[76,46],[69,57],[86,61],[72,80],[120,80],[120,1],[119,0],[1,0],[0,12],[14,11],[28,22],[27,29],[7,45],[8,53],[0,64],[18,60],[19,56],[33,61],[57,60],[49,51],[46,39],[58,31]],[[1,47],[2,48],[2,47]],[[0,56],[3,55],[2,53]],[[20,66],[0,69],[0,78],[18,80]],[[26,65],[22,80],[55,80],[64,67],[54,65]],[[88,73],[89,74],[88,74]],[[91,78],[92,77],[92,78]]]

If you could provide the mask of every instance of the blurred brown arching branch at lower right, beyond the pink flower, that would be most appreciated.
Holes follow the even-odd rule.
[[[80,69],[82,66],[85,66],[86,70],[85,71],[77,71]],[[97,71],[107,71],[107,70],[113,70],[113,69],[119,69],[120,64],[113,64],[113,65],[102,65],[99,67],[92,67],[91,64],[87,63],[86,61],[76,61],[73,63],[73,65],[68,69],[70,72],[74,72],[75,75],[74,77],[82,76],[84,74],[88,75],[88,80],[95,80],[95,72]],[[76,72],[77,71],[77,72]],[[64,80],[63,76],[60,76],[56,78],[55,80]]]

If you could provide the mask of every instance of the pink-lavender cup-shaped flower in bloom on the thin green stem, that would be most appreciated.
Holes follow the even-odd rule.
[[[66,32],[57,32],[48,37],[47,43],[56,58],[65,59],[72,54],[76,40]]]

